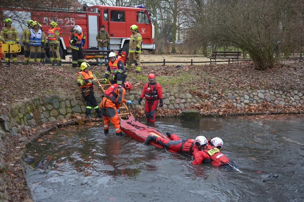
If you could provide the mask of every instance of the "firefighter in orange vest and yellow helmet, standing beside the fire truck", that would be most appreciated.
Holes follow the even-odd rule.
[[[59,30],[60,28],[57,28],[57,23],[56,22],[51,22],[50,25],[52,26],[48,33],[47,33],[47,39],[50,47],[50,60],[51,62],[58,62],[56,66],[61,66],[61,58],[59,55],[59,47],[60,47],[60,42],[59,42]],[[54,66],[55,64],[52,64]]]

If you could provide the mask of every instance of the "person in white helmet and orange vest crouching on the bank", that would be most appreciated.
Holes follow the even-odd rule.
[[[106,84],[108,78],[111,84],[123,84],[127,78],[127,71],[125,66],[123,65],[123,60],[121,56],[118,56],[116,59],[116,54],[114,52],[110,52],[109,54],[109,65],[107,70],[105,71],[105,78],[102,83]]]

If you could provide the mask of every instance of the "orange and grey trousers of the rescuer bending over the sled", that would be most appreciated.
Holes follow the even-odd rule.
[[[122,135],[122,132],[120,130],[118,112],[116,110],[115,104],[109,98],[103,97],[99,107],[103,116],[105,133],[109,133],[109,123],[111,121],[114,125],[116,135]]]

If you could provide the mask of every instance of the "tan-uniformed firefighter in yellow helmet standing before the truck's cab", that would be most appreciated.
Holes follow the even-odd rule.
[[[129,54],[128,54],[128,64],[126,65],[126,69],[131,69],[132,61],[135,60],[135,73],[139,73],[140,68],[140,53],[141,53],[141,45],[143,44],[143,38],[138,31],[138,27],[136,25],[132,25],[130,27],[132,31],[132,35],[130,37],[129,42]]]

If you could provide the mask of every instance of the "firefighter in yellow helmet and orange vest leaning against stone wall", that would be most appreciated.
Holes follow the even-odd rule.
[[[98,108],[98,103],[94,97],[94,84],[97,84],[97,79],[93,76],[93,73],[88,70],[90,65],[86,62],[81,63],[80,70],[77,73],[77,85],[81,88],[84,100],[87,101],[86,107],[86,118],[91,118],[90,113],[92,107],[94,107],[97,112],[97,117],[101,118],[100,109]]]

